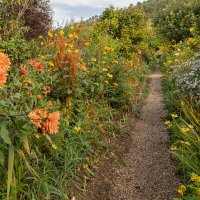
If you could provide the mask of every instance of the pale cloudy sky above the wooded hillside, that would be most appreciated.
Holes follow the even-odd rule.
[[[106,7],[125,7],[143,0],[50,0],[54,10],[54,23],[63,25],[71,18],[80,20],[99,15]]]

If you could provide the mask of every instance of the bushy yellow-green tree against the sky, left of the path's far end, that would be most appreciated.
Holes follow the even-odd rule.
[[[120,52],[128,55],[137,51],[146,33],[144,14],[130,6],[125,9],[107,8],[99,18],[96,29],[105,31],[120,42]]]

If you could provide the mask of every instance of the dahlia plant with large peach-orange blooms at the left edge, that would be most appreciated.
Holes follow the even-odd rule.
[[[0,168],[7,168],[7,199],[17,160],[22,159],[29,173],[37,176],[30,162],[35,144],[30,142],[43,136],[57,148],[50,135],[59,133],[60,121],[59,102],[50,98],[54,77],[48,76],[47,64],[32,59],[15,73],[9,72],[10,65],[8,56],[0,53]]]

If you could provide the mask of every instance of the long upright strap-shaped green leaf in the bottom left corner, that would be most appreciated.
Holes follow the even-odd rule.
[[[14,167],[14,146],[12,144],[9,145],[9,153],[8,153],[8,180],[7,180],[7,200],[9,200],[10,195],[10,186],[12,182],[13,175],[13,167]]]

